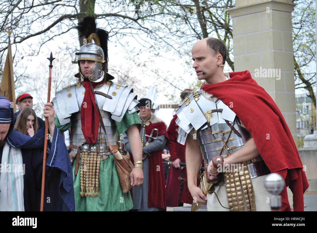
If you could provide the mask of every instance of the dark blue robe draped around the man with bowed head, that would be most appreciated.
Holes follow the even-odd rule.
[[[6,139],[9,146],[21,148],[23,164],[25,164],[25,174],[23,175],[25,211],[40,210],[44,134],[45,127],[42,127],[33,137],[12,129]],[[3,146],[0,148],[0,161],[2,152]],[[3,188],[5,187],[0,187],[0,191]],[[72,166],[63,137],[55,126],[52,143],[48,140],[44,211],[74,210]]]

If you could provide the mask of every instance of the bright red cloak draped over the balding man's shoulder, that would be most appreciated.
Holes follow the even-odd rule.
[[[293,192],[294,211],[304,211],[303,193],[308,182],[292,134],[270,95],[252,79],[249,71],[232,72],[230,79],[201,89],[232,106],[251,133],[265,164],[280,174],[286,186],[281,192],[281,211],[290,211],[286,187]]]

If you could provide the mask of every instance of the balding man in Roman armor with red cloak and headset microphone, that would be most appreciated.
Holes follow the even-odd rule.
[[[212,211],[270,211],[264,180],[270,172],[276,172],[286,183],[281,210],[290,210],[289,186],[294,211],[303,211],[307,178],[275,102],[249,71],[223,74],[227,51],[222,41],[205,38],[191,52],[197,78],[205,83],[179,104],[175,122],[179,126],[177,141],[184,145],[187,139],[187,177],[192,197]],[[206,196],[196,185],[201,155],[208,166],[208,178],[217,182]],[[223,157],[222,168],[228,164],[229,169],[214,167],[212,159],[216,155]]]

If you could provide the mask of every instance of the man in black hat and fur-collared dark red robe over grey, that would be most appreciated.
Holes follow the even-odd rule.
[[[149,99],[140,99],[139,118],[142,127],[139,129],[143,147],[143,184],[132,188],[133,210],[162,211],[166,210],[165,180],[162,160],[162,148],[167,141],[166,125],[163,120],[152,114],[152,103]],[[152,138],[150,139],[152,133]],[[148,142],[148,143],[147,143]],[[125,134],[123,143],[131,153],[128,138]],[[132,156],[131,159],[133,160]]]

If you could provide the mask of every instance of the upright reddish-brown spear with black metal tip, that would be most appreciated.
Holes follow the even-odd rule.
[[[51,55],[47,58],[49,59],[49,89],[47,92],[47,103],[50,102],[51,98],[51,81],[52,81],[52,61],[55,59],[53,57],[53,54],[51,52]],[[43,211],[44,207],[44,187],[45,187],[45,168],[46,168],[46,153],[47,153],[47,140],[48,140],[48,135],[49,133],[49,119],[45,119],[45,138],[44,138],[44,154],[43,154],[43,171],[42,171],[42,190],[41,190],[41,207],[40,211]]]

